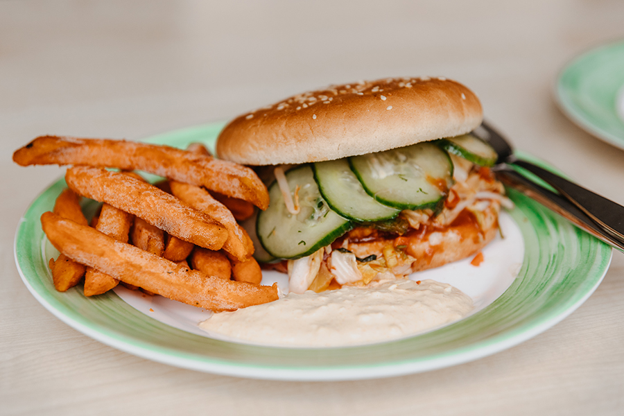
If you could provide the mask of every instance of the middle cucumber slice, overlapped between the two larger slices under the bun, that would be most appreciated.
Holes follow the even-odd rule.
[[[312,165],[318,189],[329,207],[359,223],[389,220],[401,210],[381,205],[366,193],[347,159],[318,162]]]

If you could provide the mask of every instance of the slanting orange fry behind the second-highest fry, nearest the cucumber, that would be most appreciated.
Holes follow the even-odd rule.
[[[223,250],[243,261],[253,254],[253,243],[249,236],[243,232],[243,228],[236,223],[232,213],[223,204],[212,198],[205,189],[182,182],[169,181],[171,192],[182,202],[198,211],[209,214],[218,220],[229,232]],[[213,249],[211,249],[213,250]]]

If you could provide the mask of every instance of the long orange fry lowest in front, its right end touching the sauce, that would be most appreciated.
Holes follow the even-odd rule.
[[[45,212],[41,223],[52,245],[67,257],[169,299],[233,311],[278,298],[276,284],[259,286],[189,270],[52,212]]]

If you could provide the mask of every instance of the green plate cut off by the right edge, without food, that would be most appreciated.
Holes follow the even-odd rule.
[[[624,41],[580,55],[560,73],[562,111],[589,134],[624,149]]]

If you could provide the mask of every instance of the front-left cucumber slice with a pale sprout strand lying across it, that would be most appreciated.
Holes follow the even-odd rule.
[[[286,173],[291,195],[299,186],[299,214],[286,209],[277,182],[269,187],[270,204],[260,211],[256,231],[263,248],[273,257],[298,259],[332,243],[351,229],[352,223],[336,214],[322,198],[309,165]]]

